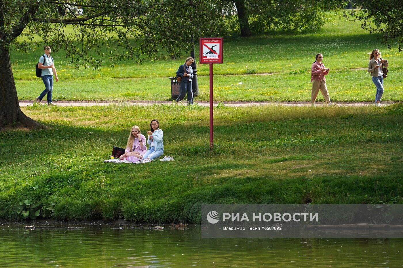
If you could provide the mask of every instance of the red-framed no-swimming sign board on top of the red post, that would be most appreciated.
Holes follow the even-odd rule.
[[[199,63],[222,63],[222,37],[202,37],[199,44]]]

